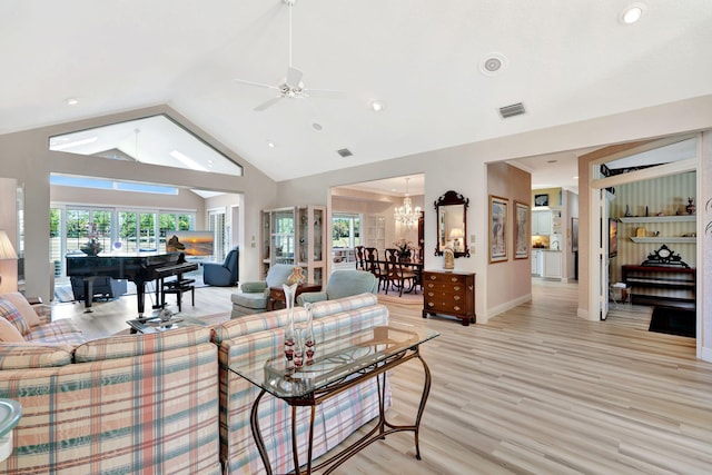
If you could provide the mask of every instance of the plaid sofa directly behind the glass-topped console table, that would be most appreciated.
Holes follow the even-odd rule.
[[[306,320],[306,310],[297,308],[296,321]],[[230,364],[239,365],[251,352],[271,352],[284,339],[288,321],[286,309],[247,315],[212,328],[214,342],[219,346],[220,362],[220,458],[226,473],[265,473],[250,429],[250,410],[259,394],[248,380],[230,372]],[[317,340],[347,335],[355,329],[388,323],[388,309],[378,305],[373,294],[362,294],[318,304],[314,310]],[[318,347],[317,347],[318,352]],[[390,406],[390,388],[386,384],[385,407]],[[259,425],[274,473],[288,473],[293,467],[290,407],[266,394],[260,400]],[[336,447],[360,426],[378,415],[378,386],[370,379],[327,399],[317,406],[314,457]],[[299,461],[306,461],[306,434],[309,408],[297,408]]]

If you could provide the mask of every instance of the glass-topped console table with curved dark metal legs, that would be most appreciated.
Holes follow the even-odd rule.
[[[253,403],[250,426],[267,473],[271,474],[271,465],[259,428],[258,417],[259,402],[265,393],[269,393],[291,406],[293,427],[297,407],[310,407],[312,427],[309,427],[308,434],[308,459],[305,472],[307,474],[310,474],[313,469],[335,468],[370,443],[383,439],[388,434],[403,431],[414,433],[416,458],[421,459],[418,432],[431,390],[431,370],[419,353],[419,346],[438,335],[437,331],[429,328],[388,324],[358,330],[346,336],[342,335],[326,342],[317,340],[314,360],[298,368],[287,367],[281,345],[276,346],[271,352],[269,349],[255,352],[230,364],[229,370],[260,388]],[[393,425],[386,420],[384,409],[383,390],[385,390],[386,372],[414,358],[419,359],[425,372],[415,423],[413,425]],[[379,417],[376,426],[348,447],[312,467],[316,406],[329,397],[374,377],[380,378],[378,386],[380,388],[378,392]],[[295,473],[301,473],[295,431],[291,432],[291,444],[295,447],[293,451]],[[329,472],[328,468],[325,471],[325,473]]]

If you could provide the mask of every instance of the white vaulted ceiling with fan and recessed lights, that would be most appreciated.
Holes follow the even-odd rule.
[[[298,0],[293,65],[307,88],[346,99],[257,112],[274,91],[235,79],[285,77],[281,0],[6,0],[0,133],[168,103],[284,180],[712,93],[710,0],[645,0],[641,21],[624,26],[629,3]],[[487,76],[479,65],[493,53],[504,67]],[[526,115],[502,119],[515,102]],[[551,159],[553,179],[575,157],[526,166]]]

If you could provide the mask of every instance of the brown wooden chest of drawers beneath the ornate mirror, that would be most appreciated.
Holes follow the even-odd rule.
[[[435,314],[476,321],[474,273],[423,270],[423,318]]]

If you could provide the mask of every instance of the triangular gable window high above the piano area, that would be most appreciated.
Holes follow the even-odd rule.
[[[243,167],[166,115],[50,137],[49,149],[243,176]]]

